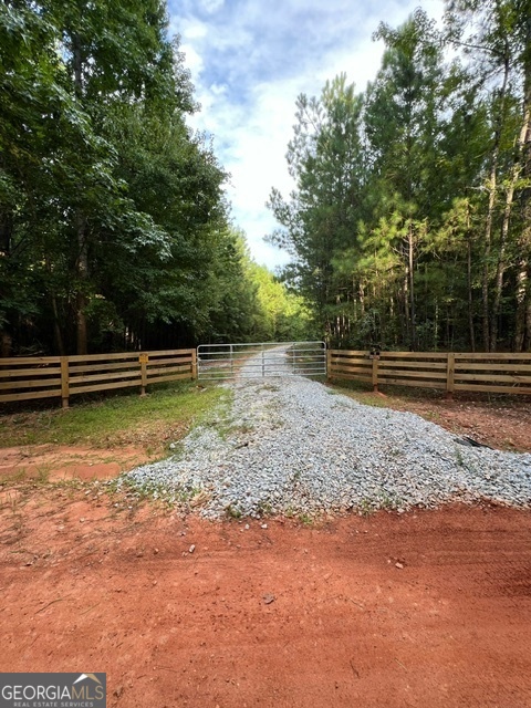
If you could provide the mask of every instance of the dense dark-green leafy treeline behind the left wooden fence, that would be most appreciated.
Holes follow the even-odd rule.
[[[0,355],[305,326],[230,227],[163,0],[4,0],[0,102]]]

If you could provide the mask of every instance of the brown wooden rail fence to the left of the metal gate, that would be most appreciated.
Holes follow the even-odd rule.
[[[74,394],[196,378],[196,350],[127,352],[75,356],[0,358],[0,403],[60,397],[64,408]]]

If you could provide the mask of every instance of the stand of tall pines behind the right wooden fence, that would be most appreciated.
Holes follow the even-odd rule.
[[[381,24],[382,66],[299,96],[295,188],[273,189],[333,345],[531,351],[531,2],[447,0]]]

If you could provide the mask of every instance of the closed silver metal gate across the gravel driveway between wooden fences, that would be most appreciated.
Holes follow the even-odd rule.
[[[204,381],[325,374],[324,342],[200,344],[197,347],[197,377]]]

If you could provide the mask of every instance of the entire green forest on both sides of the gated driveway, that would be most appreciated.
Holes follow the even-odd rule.
[[[4,0],[0,356],[531,351],[531,0],[446,0],[441,25],[417,10],[375,39],[365,91],[344,73],[296,100],[273,275],[187,125],[165,0]]]

